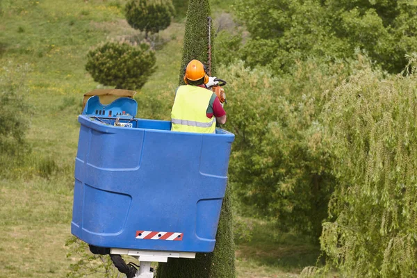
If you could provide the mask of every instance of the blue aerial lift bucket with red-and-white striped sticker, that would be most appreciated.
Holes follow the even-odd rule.
[[[99,247],[212,252],[234,134],[174,132],[134,109],[115,126],[132,100],[79,115],[72,234]]]

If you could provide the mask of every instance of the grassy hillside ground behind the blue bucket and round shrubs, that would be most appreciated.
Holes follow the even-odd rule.
[[[22,169],[0,177],[0,278],[65,277],[74,261],[66,257],[65,240],[72,217],[76,117],[83,94],[99,85],[84,70],[85,55],[101,41],[140,33],[124,20],[122,0],[0,3],[0,74],[27,64],[22,81],[21,73],[12,77],[24,84],[32,148]],[[156,53],[158,70],[136,97],[138,117],[170,115],[183,24],[174,22],[160,36],[165,44]],[[316,263],[318,249],[306,240],[250,222],[252,240],[237,245],[238,277],[298,277],[304,266]]]

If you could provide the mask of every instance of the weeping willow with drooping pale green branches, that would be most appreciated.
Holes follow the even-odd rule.
[[[417,277],[417,78],[369,66],[325,106],[337,187],[322,250],[349,277]]]

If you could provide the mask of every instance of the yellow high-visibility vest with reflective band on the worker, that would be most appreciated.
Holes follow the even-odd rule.
[[[215,117],[206,116],[213,92],[193,85],[181,85],[171,111],[171,130],[215,133]]]

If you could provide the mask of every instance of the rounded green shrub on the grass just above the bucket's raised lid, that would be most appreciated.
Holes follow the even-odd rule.
[[[85,70],[92,78],[116,89],[140,89],[156,69],[155,53],[145,43],[106,42],[90,50],[87,59]]]

